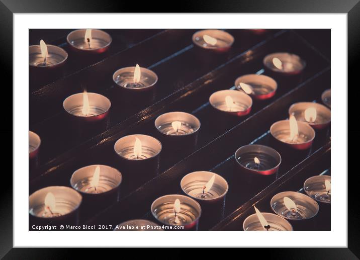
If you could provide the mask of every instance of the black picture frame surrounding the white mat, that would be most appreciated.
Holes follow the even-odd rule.
[[[1,0],[0,1],[0,30],[2,39],[0,40],[0,49],[2,58],[2,72],[3,75],[8,75],[10,79],[7,85],[3,85],[3,95],[8,97],[12,96],[12,89],[10,84],[12,82],[13,74],[13,15],[16,13],[124,13],[124,12],[156,12],[159,13],[157,8],[160,8],[160,3],[155,5],[153,2],[142,2],[140,6],[136,2],[110,0],[103,1],[90,1],[90,0],[77,0],[77,1],[13,1]],[[179,2],[176,9],[163,10],[163,12],[210,12],[210,13],[346,13],[347,14],[347,37],[348,37],[348,80],[349,82],[356,82],[355,71],[357,71],[358,58],[360,56],[359,43],[360,43],[360,3],[359,0],[338,0],[327,1],[317,0],[316,2],[310,0],[303,1],[287,1],[287,0],[272,0],[272,1],[198,1],[198,2]],[[346,88],[346,86],[343,86]],[[356,95],[349,96],[348,103],[351,104],[352,99]],[[7,99],[11,100],[11,99]],[[10,107],[9,104],[8,107]],[[355,116],[355,112],[348,110],[348,118]],[[13,134],[12,117],[8,116],[7,120],[3,122],[1,132],[3,135]],[[348,126],[347,126],[348,127]],[[348,134],[359,134],[360,130],[355,127],[348,127]],[[11,140],[8,138],[4,147],[11,147]],[[352,145],[356,145],[352,143]],[[10,149],[7,150],[9,158],[5,161],[10,161],[12,153]],[[349,153],[349,158],[355,159],[355,153]],[[344,172],[346,174],[347,165],[344,165]],[[12,183],[12,177],[7,171],[6,179],[4,182]],[[350,172],[350,171],[349,171]],[[3,176],[5,172],[3,172]],[[272,249],[271,255],[267,255],[266,251],[257,251],[263,253],[267,258],[271,256],[280,258],[312,258],[312,259],[358,259],[360,256],[360,221],[358,217],[358,206],[351,207],[350,205],[357,205],[357,196],[351,196],[351,193],[356,191],[356,172],[353,175],[348,175],[348,247],[347,248],[311,248],[311,249]],[[351,192],[352,191],[352,192]],[[0,256],[4,259],[57,259],[67,258],[73,254],[70,250],[56,249],[37,249],[37,248],[13,248],[13,188],[12,185],[6,185],[1,189],[2,210],[0,213]],[[88,250],[87,254],[93,253]],[[83,254],[85,256],[85,254]],[[85,256],[86,257],[86,256]]]

